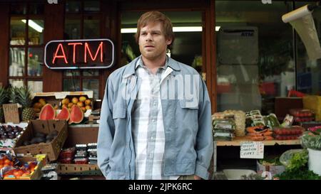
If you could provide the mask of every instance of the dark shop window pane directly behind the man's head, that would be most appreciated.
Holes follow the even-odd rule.
[[[121,16],[121,65],[141,55],[135,41],[138,18],[144,12],[126,11]],[[171,58],[202,72],[202,12],[163,11],[173,23],[175,41],[168,50]],[[187,28],[186,28],[187,27]]]

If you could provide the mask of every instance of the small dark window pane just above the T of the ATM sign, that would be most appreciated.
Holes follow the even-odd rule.
[[[69,18],[65,21],[65,39],[81,39],[81,18]]]

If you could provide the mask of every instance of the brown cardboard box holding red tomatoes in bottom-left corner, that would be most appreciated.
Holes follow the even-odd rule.
[[[4,180],[40,180],[41,176],[42,176],[41,168],[46,165],[46,159],[47,159],[47,157],[44,157],[44,158],[41,157],[40,160],[39,160],[39,158],[36,158],[36,157],[33,157],[33,156],[22,156],[22,157],[19,157],[18,160],[21,163],[27,163],[29,161],[39,161],[39,163],[36,166],[36,168],[34,168],[34,172],[31,173],[30,176],[21,176],[18,179],[6,177],[6,178],[4,178]]]

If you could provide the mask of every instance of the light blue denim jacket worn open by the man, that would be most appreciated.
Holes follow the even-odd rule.
[[[135,71],[137,60],[111,73],[106,82],[97,154],[98,166],[107,179],[135,177],[131,109],[141,85]],[[168,58],[168,67],[173,71],[161,85],[164,176],[196,175],[208,179],[213,155],[208,90],[198,72],[190,66]]]

